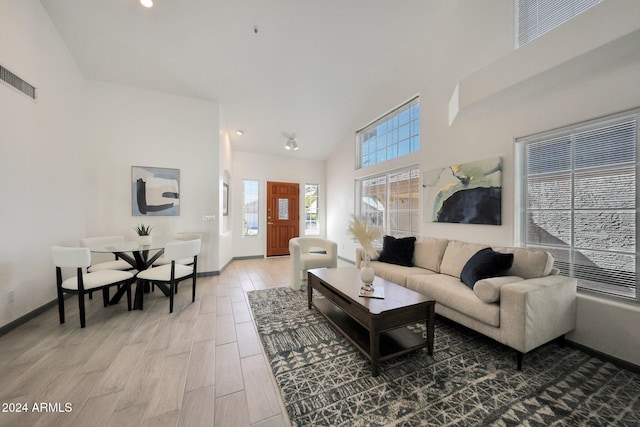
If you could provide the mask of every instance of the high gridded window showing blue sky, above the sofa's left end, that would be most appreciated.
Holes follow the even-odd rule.
[[[358,168],[420,150],[418,97],[356,132]]]

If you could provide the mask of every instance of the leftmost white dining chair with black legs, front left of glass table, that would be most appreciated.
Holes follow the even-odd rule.
[[[129,271],[98,270],[92,273],[83,273],[83,269],[91,265],[91,251],[89,248],[65,248],[53,246],[51,258],[56,267],[56,287],[58,290],[58,311],[60,323],[64,323],[64,294],[78,295],[78,307],[80,310],[80,327],[86,325],[84,295],[91,291],[102,289],[104,306],[109,305],[109,287],[126,286],[127,308],[131,311],[131,284],[135,276]],[[73,268],[76,275],[68,279],[62,279],[62,269]]]

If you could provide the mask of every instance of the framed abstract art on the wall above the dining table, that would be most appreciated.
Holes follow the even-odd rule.
[[[131,167],[133,216],[180,215],[180,169]]]

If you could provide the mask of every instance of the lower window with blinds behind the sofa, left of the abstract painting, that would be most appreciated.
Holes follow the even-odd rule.
[[[415,235],[420,226],[420,169],[413,166],[357,181],[358,214],[389,235]]]

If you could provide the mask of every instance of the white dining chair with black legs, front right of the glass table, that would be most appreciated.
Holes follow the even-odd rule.
[[[169,261],[169,264],[149,268],[137,275],[139,280],[152,284],[162,283],[169,285],[169,313],[173,313],[173,297],[176,293],[178,282],[191,278],[191,302],[196,300],[196,276],[200,246],[200,239],[167,243],[164,247],[164,257]],[[193,264],[184,265],[177,262],[184,258],[193,258]],[[138,286],[138,288],[141,287]],[[138,291],[138,298],[142,302],[140,291]]]

